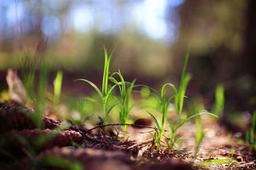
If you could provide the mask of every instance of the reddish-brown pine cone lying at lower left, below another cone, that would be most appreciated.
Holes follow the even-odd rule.
[[[15,156],[24,155],[23,148],[26,150],[33,148],[37,152],[54,146],[69,146],[72,141],[76,143],[82,141],[82,135],[79,132],[72,130],[57,132],[50,129],[12,130],[2,134],[0,138],[5,139],[2,148]]]

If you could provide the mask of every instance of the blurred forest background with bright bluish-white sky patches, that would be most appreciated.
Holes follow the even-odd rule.
[[[0,1],[1,91],[9,68],[20,58],[42,53],[51,77],[63,70],[63,91],[84,96],[100,86],[104,50],[117,45],[110,72],[137,78],[160,91],[179,84],[190,46],[188,97],[214,103],[218,83],[225,87],[225,112],[252,112],[256,105],[256,1],[203,0],[2,0]],[[40,43],[46,44],[40,48]]]

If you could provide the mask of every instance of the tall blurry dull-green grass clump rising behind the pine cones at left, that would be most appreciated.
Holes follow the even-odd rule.
[[[24,84],[24,91],[27,96],[27,103],[32,105],[36,110],[37,117],[33,120],[38,128],[43,126],[41,116],[46,107],[46,91],[49,74],[49,62],[46,57],[43,57],[43,52],[46,49],[47,41],[39,43],[34,57],[29,56],[26,52],[25,58],[22,60],[21,76]],[[39,84],[38,91],[35,91],[35,71],[39,69]]]

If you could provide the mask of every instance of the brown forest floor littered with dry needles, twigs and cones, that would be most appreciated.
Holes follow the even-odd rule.
[[[118,124],[104,125],[99,120],[94,128],[65,126],[54,115],[36,117],[30,108],[2,104],[0,169],[256,168],[251,147],[216,122],[204,124],[207,131],[196,152],[192,123],[179,129],[181,142],[168,149],[164,140],[162,147],[156,147],[155,130],[144,121],[127,126],[127,135],[122,135],[116,131]]]

